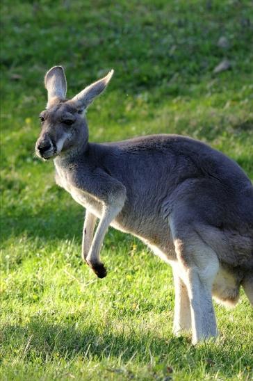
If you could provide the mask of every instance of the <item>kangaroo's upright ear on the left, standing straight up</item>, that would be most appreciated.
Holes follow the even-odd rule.
[[[50,106],[53,99],[65,99],[67,81],[62,66],[51,67],[44,77],[44,86],[47,89],[48,95],[47,107]]]

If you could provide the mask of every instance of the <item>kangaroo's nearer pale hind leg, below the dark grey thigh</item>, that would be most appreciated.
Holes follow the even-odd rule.
[[[180,225],[172,228],[180,276],[186,284],[190,302],[193,343],[217,336],[212,286],[218,273],[219,261],[215,252],[202,241],[199,234]]]

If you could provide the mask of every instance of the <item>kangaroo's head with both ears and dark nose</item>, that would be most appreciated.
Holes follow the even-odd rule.
[[[44,77],[47,108],[40,113],[42,129],[35,145],[41,159],[54,158],[88,143],[88,125],[84,111],[107,86],[113,70],[92,83],[72,99],[66,99],[67,81],[63,67],[55,66]]]

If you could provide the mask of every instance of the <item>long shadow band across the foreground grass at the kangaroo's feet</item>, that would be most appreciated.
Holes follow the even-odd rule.
[[[136,364],[149,369],[154,378],[155,369],[168,365],[175,372],[193,372],[194,375],[202,368],[206,375],[219,373],[226,379],[249,368],[249,355],[243,348],[234,348],[233,340],[229,339],[222,344],[211,342],[192,346],[190,337],[169,334],[165,339],[158,332],[139,330],[136,326],[131,328],[131,325],[126,328],[121,325],[118,332],[115,326],[104,323],[87,324],[80,329],[76,325],[73,322],[49,323],[38,316],[33,316],[31,323],[25,326],[6,325],[2,334],[3,352],[5,348],[6,353],[9,348],[15,348],[17,361],[20,358],[21,362],[43,366],[61,364],[62,360],[69,364],[95,362],[110,371],[106,366],[124,368]],[[111,368],[111,371],[117,369]]]

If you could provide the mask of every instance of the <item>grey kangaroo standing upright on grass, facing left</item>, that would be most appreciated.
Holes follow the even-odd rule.
[[[193,343],[215,337],[212,295],[235,305],[243,286],[253,305],[252,183],[227,156],[186,136],[89,143],[85,110],[112,76],[66,99],[63,67],[47,72],[36,153],[54,159],[56,183],[86,209],[82,257],[97,276],[106,276],[99,252],[108,226],[133,234],[172,266],[174,334],[191,329]]]

